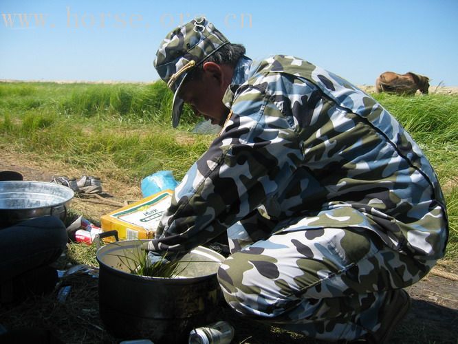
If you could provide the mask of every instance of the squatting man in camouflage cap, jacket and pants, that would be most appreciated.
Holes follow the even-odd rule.
[[[386,342],[402,289],[443,257],[446,206],[430,163],[373,98],[293,56],[252,61],[206,19],[170,32],[155,69],[221,133],[175,189],[151,256],[227,232],[228,305],[311,338]]]

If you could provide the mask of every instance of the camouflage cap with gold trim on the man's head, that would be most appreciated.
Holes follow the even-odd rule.
[[[180,25],[162,41],[156,52],[154,67],[174,93],[173,127],[177,127],[182,114],[184,100],[179,98],[178,93],[188,72],[227,43],[230,43],[228,39],[205,17]]]

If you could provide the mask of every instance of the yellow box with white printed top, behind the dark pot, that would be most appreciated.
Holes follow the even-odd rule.
[[[100,217],[104,232],[117,230],[120,240],[153,239],[173,191],[164,190]]]

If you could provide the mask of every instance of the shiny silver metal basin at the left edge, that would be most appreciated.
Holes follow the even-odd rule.
[[[43,215],[64,220],[73,197],[72,189],[59,184],[0,182],[0,228]]]

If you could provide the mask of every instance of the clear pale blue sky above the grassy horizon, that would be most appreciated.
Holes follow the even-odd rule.
[[[458,0],[0,0],[0,78],[157,80],[160,42],[200,14],[255,59],[298,56],[358,85],[387,70],[458,85]]]

